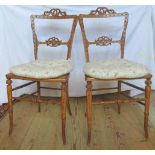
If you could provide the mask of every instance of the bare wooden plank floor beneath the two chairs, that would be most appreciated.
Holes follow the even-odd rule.
[[[94,97],[95,102],[100,99],[101,96]],[[116,105],[94,105],[92,142],[87,145],[85,102],[84,97],[70,99],[73,115],[67,114],[66,145],[61,139],[60,104],[44,103],[39,113],[35,103],[16,103],[11,136],[8,136],[8,114],[0,121],[0,149],[155,149],[155,92],[151,97],[147,141],[143,131],[143,106],[124,104],[119,115]]]

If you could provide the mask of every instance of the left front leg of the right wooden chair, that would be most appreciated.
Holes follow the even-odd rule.
[[[87,81],[87,124],[88,124],[88,139],[87,144],[91,141],[91,130],[92,130],[92,82]]]

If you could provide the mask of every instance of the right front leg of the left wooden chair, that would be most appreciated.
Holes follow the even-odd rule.
[[[66,107],[67,107],[67,84],[62,82],[61,86],[61,121],[62,121],[62,140],[66,144]]]

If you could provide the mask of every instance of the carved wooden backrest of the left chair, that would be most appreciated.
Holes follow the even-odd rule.
[[[37,37],[37,33],[36,33],[36,24],[35,24],[36,19],[41,19],[41,20],[45,20],[45,19],[48,19],[48,20],[72,19],[73,23],[72,23],[72,27],[71,27],[71,31],[70,31],[69,40],[62,41],[55,36],[51,36],[50,38],[47,38],[47,40],[39,41],[38,37]],[[66,59],[69,59],[71,57],[73,38],[74,38],[77,22],[78,22],[78,17],[76,15],[67,15],[66,12],[61,11],[60,9],[57,9],[57,8],[53,8],[50,11],[45,11],[42,15],[31,15],[31,28],[32,28],[32,32],[33,32],[35,60],[38,59],[38,46],[40,44],[42,44],[42,45],[44,44],[44,45],[51,46],[51,47],[66,45],[67,49],[68,49]],[[65,24],[64,24],[64,26],[65,26]]]

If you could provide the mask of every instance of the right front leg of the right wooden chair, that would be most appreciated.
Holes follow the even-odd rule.
[[[151,94],[151,78],[147,78],[145,81],[145,112],[144,112],[144,131],[145,138],[148,138],[148,117],[150,107],[150,94]]]

